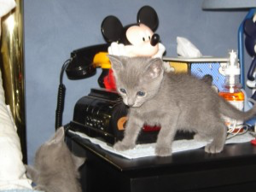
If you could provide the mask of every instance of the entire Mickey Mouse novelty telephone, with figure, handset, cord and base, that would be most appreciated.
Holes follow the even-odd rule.
[[[96,73],[96,67],[102,68],[98,79],[100,89],[91,89],[76,103],[73,120],[68,129],[81,131],[90,137],[98,137],[113,144],[123,138],[128,108],[121,102],[115,91],[115,82],[108,54],[125,56],[162,57],[165,47],[160,44],[160,36],[154,31],[158,26],[155,10],[144,6],[137,13],[137,23],[123,26],[115,16],[107,16],[102,21],[102,35],[108,44],[98,44],[73,50],[62,69],[55,128],[61,126],[65,98],[65,86],[62,84],[64,72],[68,79],[90,78]],[[153,143],[160,127],[144,125],[138,137],[138,143]],[[184,134],[177,135],[183,137]]]

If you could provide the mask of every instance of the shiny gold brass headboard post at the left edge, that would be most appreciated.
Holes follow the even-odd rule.
[[[23,3],[2,18],[0,68],[5,102],[13,114],[20,137],[23,162],[26,163],[26,111],[23,45]]]

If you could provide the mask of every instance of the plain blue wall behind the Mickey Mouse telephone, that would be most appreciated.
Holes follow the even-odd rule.
[[[203,11],[202,0],[26,0],[26,129],[28,162],[36,149],[55,131],[55,108],[61,66],[73,49],[105,43],[100,26],[107,15],[116,15],[123,25],[136,22],[143,5],[156,10],[157,33],[166,46],[166,55],[176,56],[176,38],[188,38],[203,55],[226,56],[237,49],[237,28],[246,11]],[[247,65],[250,63],[247,58]],[[96,76],[67,80],[63,124],[73,119],[73,107],[90,88]]]

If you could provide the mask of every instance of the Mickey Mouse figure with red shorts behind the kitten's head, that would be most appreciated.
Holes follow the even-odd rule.
[[[161,58],[166,48],[160,44],[160,36],[154,33],[158,24],[158,16],[149,6],[139,9],[137,23],[128,26],[123,26],[113,15],[107,16],[102,21],[102,35],[110,44],[108,54]],[[108,70],[108,75],[105,71],[103,83],[107,89],[115,89],[111,69]]]

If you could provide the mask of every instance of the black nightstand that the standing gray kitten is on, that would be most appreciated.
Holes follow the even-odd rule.
[[[203,148],[170,157],[127,160],[67,131],[67,145],[87,158],[81,168],[83,191],[172,192],[253,191],[256,189],[256,147],[227,144],[220,154]]]

